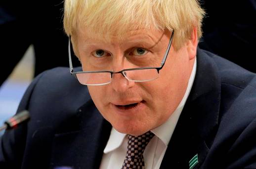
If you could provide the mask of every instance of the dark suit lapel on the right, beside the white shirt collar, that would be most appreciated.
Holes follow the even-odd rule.
[[[220,77],[211,57],[198,49],[197,73],[172,134],[161,169],[186,169],[198,155],[198,169],[211,147],[218,124]]]

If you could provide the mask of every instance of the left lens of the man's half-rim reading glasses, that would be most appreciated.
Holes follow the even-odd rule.
[[[109,72],[77,73],[76,76],[79,83],[85,85],[109,84],[111,82],[111,73]]]

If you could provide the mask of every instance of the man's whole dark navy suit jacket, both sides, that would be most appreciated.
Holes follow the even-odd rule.
[[[256,75],[198,49],[197,72],[161,169],[256,168]],[[31,120],[6,131],[0,169],[99,168],[111,125],[93,104],[86,86],[56,68],[38,76],[18,112]]]

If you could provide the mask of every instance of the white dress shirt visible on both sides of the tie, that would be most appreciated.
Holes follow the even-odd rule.
[[[143,153],[146,169],[159,169],[164,158],[171,135],[176,127],[180,113],[185,105],[196,75],[196,59],[191,72],[186,92],[176,110],[161,126],[152,129],[155,136],[150,140]],[[108,143],[100,164],[100,169],[121,169],[126,157],[128,135],[112,127]]]

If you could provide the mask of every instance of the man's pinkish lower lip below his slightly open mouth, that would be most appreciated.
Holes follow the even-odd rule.
[[[114,110],[116,110],[118,113],[123,114],[123,115],[131,115],[131,114],[137,114],[141,112],[143,109],[145,109],[145,102],[139,102],[138,104],[130,107],[125,107],[125,106],[116,106],[112,104],[114,107]]]

